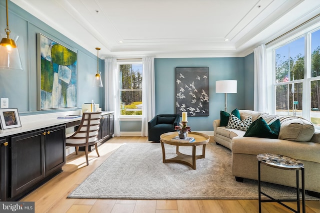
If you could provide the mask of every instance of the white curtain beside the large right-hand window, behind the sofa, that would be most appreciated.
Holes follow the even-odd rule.
[[[267,112],[267,70],[265,45],[254,48],[254,102],[253,110]]]

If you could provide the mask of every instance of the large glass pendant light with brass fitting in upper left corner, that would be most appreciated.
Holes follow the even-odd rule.
[[[0,68],[22,69],[19,50],[15,40],[19,36],[15,36],[15,40],[9,37],[10,29],[8,22],[8,0],[5,0],[6,8],[6,28],[4,29],[6,37],[3,37],[0,42]]]

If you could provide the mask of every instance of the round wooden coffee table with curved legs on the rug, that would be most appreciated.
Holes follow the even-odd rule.
[[[205,158],[205,145],[209,142],[210,137],[203,133],[198,132],[191,132],[189,133],[188,137],[193,137],[195,140],[193,142],[176,142],[171,141],[171,139],[178,135],[178,132],[168,132],[160,135],[160,143],[162,147],[162,159],[163,163],[181,163],[185,164],[192,169],[196,169],[195,160]],[[174,158],[165,159],[165,149],[164,144],[169,144],[176,146],[176,155]],[[195,155],[195,148],[196,146],[203,145],[202,146],[202,155]],[[179,146],[192,146],[192,155],[186,155],[179,152]]]

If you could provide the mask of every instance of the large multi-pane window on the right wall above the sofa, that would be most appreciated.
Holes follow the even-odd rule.
[[[320,30],[273,45],[276,115],[295,115],[320,128]]]

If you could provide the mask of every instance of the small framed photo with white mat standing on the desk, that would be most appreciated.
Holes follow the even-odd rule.
[[[0,109],[0,123],[2,129],[21,127],[18,109]]]

